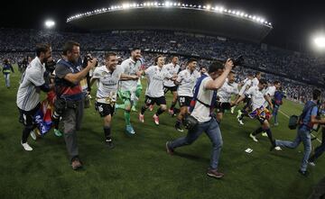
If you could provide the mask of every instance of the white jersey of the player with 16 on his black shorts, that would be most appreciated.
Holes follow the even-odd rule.
[[[95,68],[93,78],[98,79],[98,91],[96,101],[98,103],[110,104],[116,102],[118,81],[123,73],[121,66],[109,71],[106,66]]]

